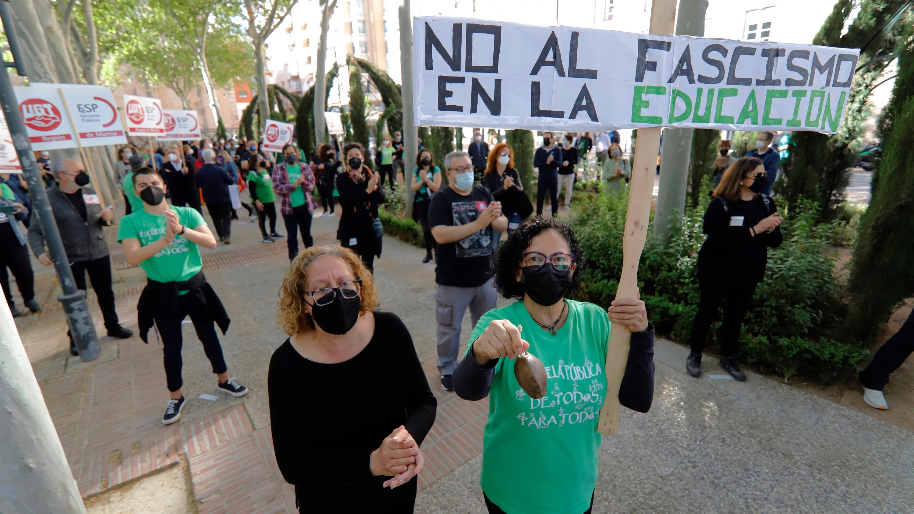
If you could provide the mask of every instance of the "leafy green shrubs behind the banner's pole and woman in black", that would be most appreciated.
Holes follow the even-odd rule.
[[[698,250],[705,241],[702,218],[710,199],[702,195],[672,227],[667,243],[647,237],[638,272],[641,297],[654,326],[686,341],[698,309]],[[581,205],[571,225],[587,259],[579,298],[610,304],[622,273],[622,234],[627,194],[596,196]],[[828,245],[834,224],[815,226],[817,205],[800,199],[785,216],[781,247],[770,249],[765,280],[756,288],[740,336],[741,355],[764,372],[789,378],[801,373],[823,383],[845,378],[866,353],[833,341],[845,307]],[[653,224],[651,225],[653,226]],[[708,348],[718,346],[709,334]],[[770,343],[769,341],[774,341]]]

